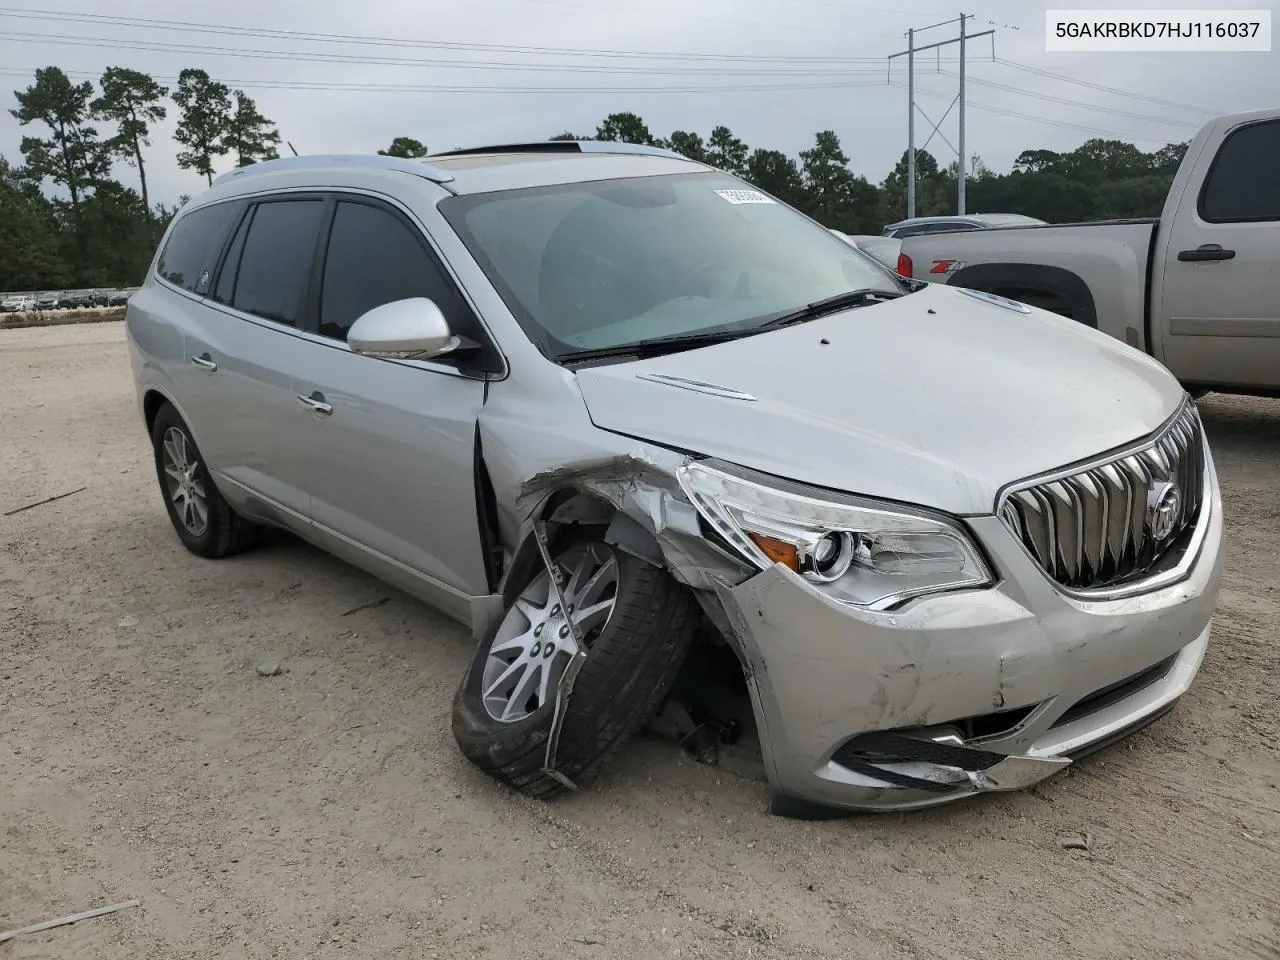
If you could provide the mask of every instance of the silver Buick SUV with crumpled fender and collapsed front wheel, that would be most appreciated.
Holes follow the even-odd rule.
[[[534,796],[695,640],[787,815],[1037,782],[1208,644],[1222,511],[1162,366],[662,150],[239,169],[127,325],[182,543],[284,527],[467,625],[456,739]]]

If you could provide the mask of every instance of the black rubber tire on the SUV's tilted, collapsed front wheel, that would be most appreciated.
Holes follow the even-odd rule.
[[[557,566],[573,570],[575,550],[582,549],[594,552],[598,559],[605,556],[612,559],[616,589],[612,612],[603,626],[585,625],[586,660],[577,673],[561,724],[556,769],[577,787],[591,783],[617,750],[657,712],[676,681],[698,626],[698,603],[686,588],[666,571],[616,550],[598,536],[579,536],[557,545],[553,554]],[[570,603],[573,602],[573,586],[575,580],[567,579],[563,589]],[[526,596],[544,595],[548,589],[547,571],[538,564],[516,603],[479,644],[453,700],[453,736],[463,756],[485,773],[539,799],[550,799],[566,790],[559,780],[543,772],[543,765],[556,712],[556,690],[570,655],[563,649],[557,650],[545,701],[534,705],[534,698],[522,704],[520,709],[531,709],[518,719],[495,717],[494,701],[486,705],[484,686],[486,668],[495,669],[490,664],[490,652],[500,649],[503,643],[513,643],[508,637],[521,628],[521,623],[529,625],[525,636],[531,635],[534,618],[521,612],[521,603]],[[547,603],[554,604],[554,600]],[[584,605],[594,605],[590,596]],[[561,626],[552,618],[544,623],[544,630],[554,627],[547,635],[561,635]],[[529,648],[516,653],[515,659],[527,653]],[[536,658],[536,645],[532,653]]]

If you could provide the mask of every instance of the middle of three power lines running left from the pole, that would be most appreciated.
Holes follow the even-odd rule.
[[[0,37],[14,40],[36,40],[56,42],[60,46],[90,46],[108,50],[141,50],[145,52],[182,54],[186,56],[233,56],[250,60],[285,60],[289,63],[355,64],[360,67],[447,67],[463,70],[531,70],[552,73],[628,73],[628,74],[671,74],[671,76],[716,76],[726,77],[745,74],[751,77],[831,77],[831,76],[879,76],[881,69],[832,69],[814,67],[810,69],[768,69],[760,68],[700,68],[700,67],[618,67],[593,64],[548,64],[548,63],[509,63],[500,60],[430,60],[404,56],[360,56],[353,54],[302,52],[296,50],[239,50],[237,47],[210,46],[205,44],[166,44],[151,40],[115,40],[109,37],[82,37],[59,33],[6,32]]]

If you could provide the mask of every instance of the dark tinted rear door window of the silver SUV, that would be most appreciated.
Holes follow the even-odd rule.
[[[320,200],[260,204],[248,225],[236,293],[237,310],[297,326],[324,218]]]

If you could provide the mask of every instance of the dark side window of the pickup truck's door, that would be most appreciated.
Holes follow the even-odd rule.
[[[1211,223],[1280,220],[1280,122],[1243,127],[1224,141],[1199,212]]]

